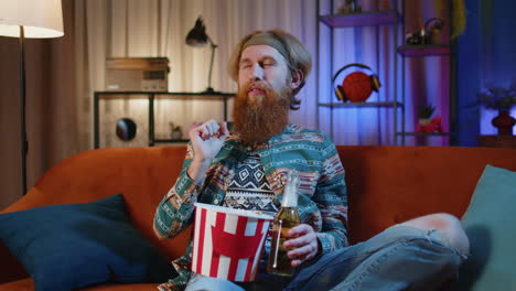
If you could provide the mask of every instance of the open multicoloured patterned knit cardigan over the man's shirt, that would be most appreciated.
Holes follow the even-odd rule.
[[[193,158],[189,144],[183,169],[172,188],[158,205],[154,229],[162,237],[174,237],[193,222],[194,203],[221,205],[238,162],[249,149],[236,132],[230,132],[215,157],[202,185],[186,174]],[[266,179],[281,201],[287,174],[291,169],[300,177],[298,212],[301,222],[318,233],[322,254],[347,246],[347,196],[344,169],[333,142],[318,130],[289,125],[281,134],[258,146]],[[162,291],[184,290],[190,279],[192,245],[174,260],[179,276],[161,284]]]

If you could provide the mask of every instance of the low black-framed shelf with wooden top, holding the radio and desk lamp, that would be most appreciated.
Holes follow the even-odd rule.
[[[94,147],[100,146],[100,110],[99,101],[109,99],[146,99],[148,100],[149,118],[149,147],[155,143],[182,143],[185,139],[158,139],[154,132],[154,100],[176,99],[176,100],[219,100],[224,106],[224,120],[227,120],[227,101],[235,97],[233,93],[173,93],[173,91],[95,91],[94,93]]]

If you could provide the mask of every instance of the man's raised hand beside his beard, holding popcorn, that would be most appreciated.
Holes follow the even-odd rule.
[[[192,163],[187,170],[191,179],[197,183],[204,179],[204,172],[221,151],[228,134],[227,123],[218,125],[214,119],[190,130],[189,136],[194,150]]]

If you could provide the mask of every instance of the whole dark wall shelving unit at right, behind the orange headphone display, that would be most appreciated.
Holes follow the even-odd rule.
[[[426,0],[420,0],[426,1]],[[393,97],[387,97],[389,94],[385,94],[386,96],[378,96],[379,101],[365,101],[365,103],[341,103],[341,101],[330,101],[330,103],[322,103],[318,99],[318,115],[319,109],[321,107],[330,108],[330,136],[334,138],[334,130],[333,130],[333,115],[334,110],[337,109],[346,109],[346,108],[390,108],[391,117],[389,117],[393,123],[393,142],[394,144],[406,144],[406,137],[450,137],[450,144],[453,144],[453,137],[454,137],[454,68],[453,68],[453,44],[451,42],[445,44],[424,44],[424,45],[406,45],[405,37],[399,41],[399,28],[401,28],[401,32],[406,33],[405,28],[405,15],[406,15],[406,0],[393,0],[390,4],[395,9],[383,10],[383,11],[367,11],[367,12],[359,12],[359,13],[352,13],[352,14],[325,14],[325,15],[318,15],[319,23],[325,24],[330,29],[330,60],[333,60],[333,34],[334,29],[353,29],[359,26],[381,26],[381,25],[390,25],[394,39],[393,43],[393,52],[394,52],[394,63],[393,63],[393,72],[394,72],[394,88],[393,88]],[[451,7],[452,1],[448,1],[448,18],[445,20],[447,23],[452,23],[451,19]],[[320,2],[318,2],[318,7],[320,8]],[[331,1],[330,10],[333,11],[334,6],[333,1]],[[401,12],[399,12],[401,9]],[[319,12],[318,12],[319,14]],[[318,25],[319,26],[319,25]],[[450,25],[448,25],[450,28]],[[451,35],[451,30],[450,30]],[[376,31],[376,37],[378,37],[378,30]],[[321,51],[321,39],[318,36],[318,56],[320,56]],[[378,43],[378,42],[376,42]],[[379,50],[378,47],[376,48]],[[408,58],[417,58],[417,57],[440,57],[440,56],[449,56],[450,57],[450,82],[449,82],[449,105],[450,105],[450,112],[449,112],[449,132],[410,132],[406,130],[407,119],[406,119],[406,106],[407,106],[407,98],[412,98],[410,100],[415,100],[415,98],[420,98],[419,96],[410,96],[407,97],[406,88],[405,88],[405,79],[406,79],[406,60]],[[399,57],[399,58],[398,58]],[[401,72],[400,76],[398,76],[398,60],[401,60]],[[379,62],[377,62],[379,63]],[[334,72],[334,62],[330,62],[331,72]],[[379,69],[376,69],[379,72]],[[401,89],[399,90],[398,77],[401,79]],[[329,76],[331,78],[331,76]],[[334,94],[335,84],[332,84],[332,88],[330,93]],[[400,93],[400,94],[398,94]],[[379,94],[379,93],[378,93]],[[399,96],[400,95],[400,96]],[[334,98],[332,98],[334,99]],[[401,114],[399,116],[399,112]],[[444,114],[444,112],[443,112]],[[318,122],[320,122],[318,117]]]

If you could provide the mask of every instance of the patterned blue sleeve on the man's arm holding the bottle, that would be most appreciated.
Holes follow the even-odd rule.
[[[322,148],[322,169],[314,202],[322,216],[322,231],[318,233],[322,254],[348,246],[347,193],[344,168],[333,142],[325,137]]]

